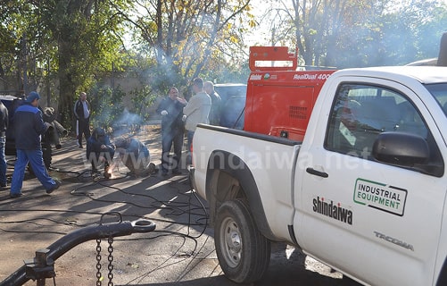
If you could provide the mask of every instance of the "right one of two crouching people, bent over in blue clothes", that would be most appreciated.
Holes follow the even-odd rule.
[[[149,150],[140,140],[120,137],[114,143],[122,163],[130,171],[127,175],[147,176],[155,170]]]

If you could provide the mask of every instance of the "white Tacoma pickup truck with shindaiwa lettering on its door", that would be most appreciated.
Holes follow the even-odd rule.
[[[302,141],[199,125],[191,179],[223,272],[260,280],[285,241],[365,285],[447,285],[446,114],[447,68],[400,66],[332,73]]]

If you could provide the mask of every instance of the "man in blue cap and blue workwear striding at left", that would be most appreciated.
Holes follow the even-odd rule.
[[[40,139],[46,132],[47,126],[43,120],[42,112],[38,108],[40,96],[36,91],[31,91],[24,104],[17,107],[12,115],[12,128],[15,134],[15,148],[17,160],[12,172],[10,197],[22,196],[21,187],[25,176],[25,168],[30,164],[38,181],[44,186],[47,194],[58,189],[61,183],[54,181],[46,171],[42,158]]]

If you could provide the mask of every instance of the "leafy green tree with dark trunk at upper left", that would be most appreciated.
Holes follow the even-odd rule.
[[[93,87],[98,72],[111,71],[112,63],[120,66],[122,22],[132,1],[14,2],[2,3],[4,25],[0,30],[10,41],[20,39],[8,51],[22,63],[16,72],[24,75],[25,86],[25,76],[35,80],[26,92],[37,88],[38,76],[51,76],[48,72],[55,75],[57,80],[53,81],[58,81],[60,88],[58,110],[65,111],[62,123],[67,124],[72,118],[67,111],[72,110],[75,95]],[[4,46],[1,48],[4,51]]]

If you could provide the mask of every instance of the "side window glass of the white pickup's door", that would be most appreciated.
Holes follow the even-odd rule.
[[[407,97],[379,86],[341,85],[329,118],[325,147],[372,160],[374,140],[384,131],[429,137],[425,122]]]

